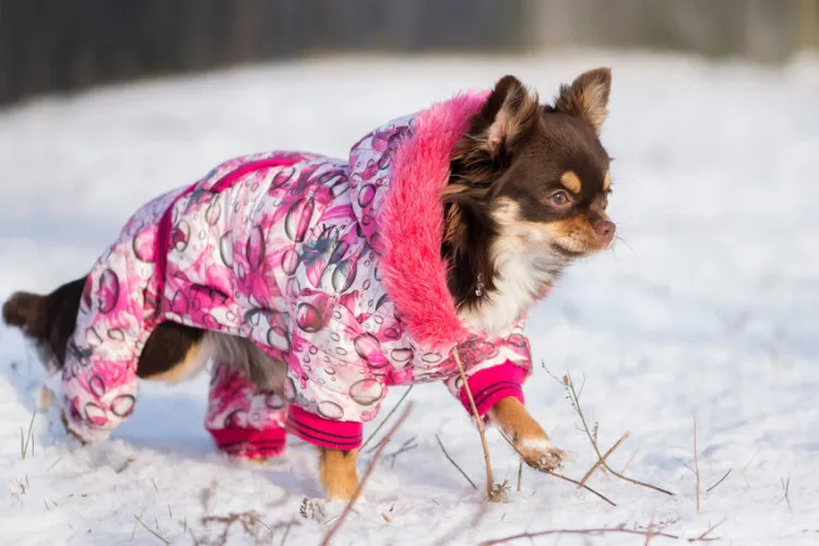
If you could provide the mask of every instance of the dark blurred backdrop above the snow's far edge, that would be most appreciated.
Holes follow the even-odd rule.
[[[819,0],[3,0],[0,104],[274,59],[578,46],[776,63],[819,48]]]

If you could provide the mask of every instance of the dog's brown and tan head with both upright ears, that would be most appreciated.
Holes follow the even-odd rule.
[[[563,85],[554,105],[514,76],[500,80],[459,145],[447,201],[487,207],[499,235],[566,259],[609,248],[609,157],[598,134],[612,84],[608,69]]]

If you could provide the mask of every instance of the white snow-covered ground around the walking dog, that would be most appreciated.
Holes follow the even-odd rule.
[[[439,435],[482,484],[474,427],[441,385],[419,385],[387,453],[411,438],[417,448],[379,463],[367,503],[334,544],[477,544],[651,523],[696,537],[723,520],[709,536],[724,544],[819,544],[816,59],[783,69],[607,52],[335,59],[31,102],[0,111],[0,298],[80,276],[139,204],[224,158],[269,149],[345,155],[370,128],[459,88],[511,72],[548,97],[598,64],[614,68],[603,140],[616,158],[610,212],[625,241],[574,266],[531,313],[529,334],[536,361],[585,379],[581,404],[600,423],[601,449],[630,431],[612,466],[676,496],[597,473],[590,485],[613,508],[530,470],[518,492],[515,455],[492,430],[496,475],[513,487],[508,502],[485,506],[436,442]],[[38,414],[23,458],[21,427],[28,431],[43,380],[21,336],[1,329],[0,544],[190,544],[221,533],[203,515],[246,511],[259,513],[261,523],[249,526],[263,544],[266,527],[272,544],[317,544],[340,512],[319,500],[305,444],[266,467],[214,453],[201,425],[205,377],[176,388],[143,383],[131,419],[93,449],[76,449],[54,415]],[[580,478],[595,458],[561,385],[538,366],[525,391],[532,413],[575,459],[566,474]],[[402,392],[391,393],[379,419]],[[240,523],[228,538],[253,542]],[[613,534],[535,544],[558,541],[644,543]]]

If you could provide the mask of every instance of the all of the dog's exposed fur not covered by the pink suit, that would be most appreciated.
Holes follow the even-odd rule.
[[[460,317],[473,327],[508,325],[531,306],[572,260],[608,248],[614,224],[606,215],[609,157],[598,141],[607,114],[610,71],[597,69],[560,87],[541,105],[513,76],[501,79],[456,146],[446,206],[441,256]],[[62,368],[85,278],[47,296],[16,293],[3,320],[36,342],[43,360]],[[166,322],[149,337],[140,378],[178,382],[210,358],[236,363],[260,388],[282,392],[284,363],[248,340]],[[553,470],[563,452],[513,397],[489,418],[526,464]],[[319,478],[330,498],[359,489],[358,451],[319,449]]]

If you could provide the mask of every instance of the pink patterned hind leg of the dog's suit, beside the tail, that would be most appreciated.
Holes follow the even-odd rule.
[[[130,245],[115,244],[88,274],[62,369],[66,426],[102,441],[133,411],[145,341],[142,281]],[[138,309],[138,312],[134,312]]]

